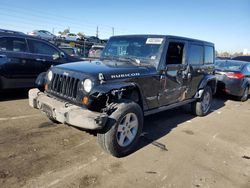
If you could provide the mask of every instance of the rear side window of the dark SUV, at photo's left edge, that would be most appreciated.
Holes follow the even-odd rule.
[[[22,38],[3,37],[0,38],[1,51],[26,52],[26,41]]]

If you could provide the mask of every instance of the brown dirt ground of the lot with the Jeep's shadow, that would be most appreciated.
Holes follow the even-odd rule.
[[[203,118],[181,109],[147,117],[138,150],[117,159],[20,92],[0,97],[1,188],[250,187],[250,100],[216,99]]]

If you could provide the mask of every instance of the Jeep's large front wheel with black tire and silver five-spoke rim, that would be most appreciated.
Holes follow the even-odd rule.
[[[131,122],[137,122],[138,126],[136,131],[134,128],[130,128],[130,124],[127,124],[126,117],[129,117],[129,121],[134,118]],[[136,119],[137,118],[137,119]],[[131,123],[130,122],[130,123]],[[125,125],[122,125],[125,124]],[[124,126],[122,128],[123,132],[118,131],[118,127]],[[141,132],[143,128],[143,112],[141,107],[132,101],[123,101],[121,103],[117,103],[116,110],[109,116],[108,122],[106,124],[106,130],[97,133],[97,139],[100,146],[109,154],[115,157],[124,157],[132,153],[136,149],[136,144],[140,138]],[[126,129],[126,130],[124,130]],[[124,136],[125,134],[133,135],[133,139],[129,139],[129,137]],[[128,145],[121,146],[121,142],[119,143],[118,137],[124,137],[125,141],[130,142]],[[132,141],[131,141],[132,140]]]

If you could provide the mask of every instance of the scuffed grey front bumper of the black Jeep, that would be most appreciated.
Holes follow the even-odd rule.
[[[29,105],[40,109],[47,116],[75,127],[102,129],[108,119],[105,113],[93,112],[79,106],[52,98],[38,89],[29,90]]]

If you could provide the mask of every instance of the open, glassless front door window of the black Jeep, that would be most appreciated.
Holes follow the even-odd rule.
[[[182,64],[184,43],[170,42],[166,56],[166,64]]]

